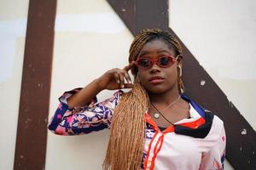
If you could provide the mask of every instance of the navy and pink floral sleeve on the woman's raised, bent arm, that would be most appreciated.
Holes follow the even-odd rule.
[[[124,92],[119,90],[111,98],[100,103],[96,103],[95,98],[83,107],[68,109],[67,99],[80,89],[65,92],[59,98],[60,105],[48,124],[51,132],[59,135],[79,135],[109,127],[113,110]]]

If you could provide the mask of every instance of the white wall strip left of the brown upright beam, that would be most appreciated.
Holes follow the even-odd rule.
[[[0,169],[4,170],[14,166],[27,11],[28,0],[0,1]]]

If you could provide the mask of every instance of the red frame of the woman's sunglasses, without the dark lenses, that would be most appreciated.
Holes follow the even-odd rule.
[[[162,57],[171,58],[171,59],[172,59],[172,60],[171,60],[172,64],[166,65],[166,66],[159,65],[158,61],[159,61],[159,59],[162,58]],[[160,56],[160,57],[157,58],[157,59],[149,59],[150,65],[147,66],[147,67],[143,67],[143,66],[141,66],[141,65],[138,64],[138,61],[139,61],[140,59],[149,59],[149,58],[148,58],[148,57],[138,57],[138,58],[136,59],[135,65],[137,65],[137,67],[138,67],[138,68],[141,68],[141,69],[148,69],[148,68],[151,68],[154,64],[158,65],[160,68],[167,68],[167,67],[172,66],[172,65],[175,63],[175,61],[177,60],[177,59],[176,59],[173,55],[171,55],[171,54],[169,54],[169,55],[163,55],[163,56]]]

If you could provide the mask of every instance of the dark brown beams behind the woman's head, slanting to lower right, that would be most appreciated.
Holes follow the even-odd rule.
[[[168,0],[108,0],[108,3],[133,35],[143,28],[159,27],[171,31],[177,37],[168,24]],[[181,42],[180,39],[179,41]],[[224,121],[227,133],[226,157],[232,166],[235,169],[253,169],[256,167],[256,133],[253,127],[241,116],[236,106],[227,99],[184,44],[183,54],[186,94]],[[201,81],[206,82],[205,85],[201,86]],[[243,129],[247,130],[247,134],[241,134]]]

